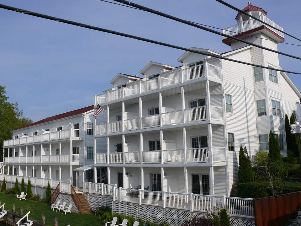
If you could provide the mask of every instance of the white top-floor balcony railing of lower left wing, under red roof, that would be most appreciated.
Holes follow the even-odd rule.
[[[71,138],[82,138],[82,132],[79,129],[68,129],[55,132],[46,132],[35,136],[24,136],[18,139],[3,141],[3,147]]]

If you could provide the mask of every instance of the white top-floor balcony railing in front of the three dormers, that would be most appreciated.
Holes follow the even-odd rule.
[[[154,79],[141,81],[133,85],[122,87],[121,89],[115,89],[100,94],[95,97],[95,104],[108,103],[110,101],[143,94],[151,90],[161,89],[203,77],[211,77],[220,80],[220,67],[205,62],[204,64],[197,65],[195,67],[189,67],[176,72],[163,74]]]

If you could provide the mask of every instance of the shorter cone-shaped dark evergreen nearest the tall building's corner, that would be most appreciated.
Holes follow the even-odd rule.
[[[254,181],[254,174],[252,171],[251,160],[248,155],[248,150],[246,147],[242,149],[241,145],[239,150],[238,180],[240,183]]]

